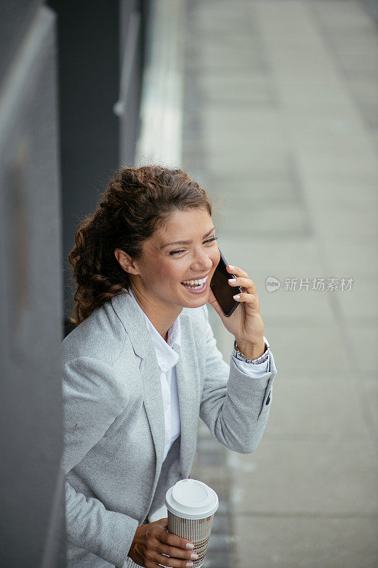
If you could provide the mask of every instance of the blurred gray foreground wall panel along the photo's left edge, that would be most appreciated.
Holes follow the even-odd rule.
[[[63,568],[55,17],[1,7],[0,564]]]

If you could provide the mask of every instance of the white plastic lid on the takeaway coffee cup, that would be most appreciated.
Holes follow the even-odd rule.
[[[184,519],[202,519],[213,515],[219,506],[216,492],[198,479],[182,479],[165,494],[165,506]]]

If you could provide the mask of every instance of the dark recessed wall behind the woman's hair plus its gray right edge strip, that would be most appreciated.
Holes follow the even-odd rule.
[[[120,163],[134,162],[149,2],[50,0],[49,5],[57,13],[58,29],[67,334],[72,329],[68,254],[74,231],[96,208],[113,171]]]

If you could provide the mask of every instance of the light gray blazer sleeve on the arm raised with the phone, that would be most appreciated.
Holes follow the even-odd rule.
[[[199,415],[223,446],[240,454],[250,454],[260,442],[272,402],[272,385],[277,369],[272,351],[266,373],[253,377],[240,371],[230,355],[230,366],[221,351],[206,318],[206,363]]]

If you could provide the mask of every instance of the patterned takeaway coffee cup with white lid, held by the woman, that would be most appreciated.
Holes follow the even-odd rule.
[[[168,531],[194,544],[194,568],[200,568],[206,557],[207,545],[219,502],[216,492],[197,479],[182,479],[165,494],[168,510]]]

